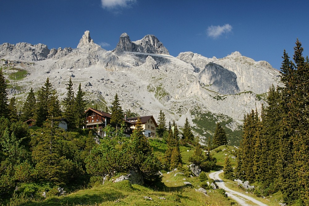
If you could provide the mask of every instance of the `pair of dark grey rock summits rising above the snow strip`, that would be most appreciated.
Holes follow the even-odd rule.
[[[143,39],[132,42],[130,37],[126,33],[123,33],[114,51],[116,53],[143,52],[169,55],[167,48],[154,35],[146,35]]]

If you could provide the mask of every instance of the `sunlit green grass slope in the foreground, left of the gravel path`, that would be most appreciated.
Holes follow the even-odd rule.
[[[149,139],[154,149],[155,155],[159,159],[164,158],[164,152],[167,145],[159,139]],[[229,147],[230,148],[230,147]],[[162,181],[155,187],[143,187],[140,185],[131,185],[125,180],[119,183],[106,181],[104,185],[97,182],[92,187],[72,192],[63,196],[50,196],[45,200],[37,200],[27,205],[179,205],[179,206],[227,206],[234,205],[235,202],[222,195],[218,190],[208,189],[205,195],[202,192],[195,191],[200,188],[198,177],[190,177],[187,164],[188,158],[193,155],[192,146],[180,146],[183,160],[183,169],[169,172],[163,171]],[[220,152],[219,152],[220,153]],[[219,154],[217,153],[217,154]],[[180,174],[180,172],[184,174]],[[178,173],[178,174],[177,174]],[[175,176],[176,175],[176,176]],[[184,182],[190,182],[192,185],[185,185]],[[144,197],[151,197],[152,200]],[[159,199],[159,198],[165,199]]]

